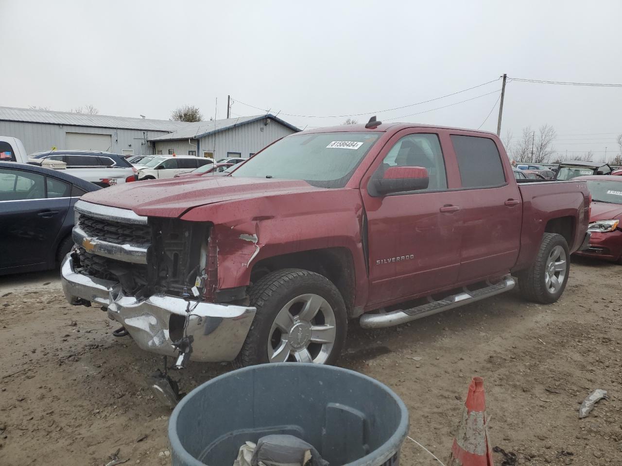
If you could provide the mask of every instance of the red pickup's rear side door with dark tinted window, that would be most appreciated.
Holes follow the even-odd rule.
[[[521,194],[511,167],[490,137],[465,132],[450,139],[463,214],[458,281],[507,273],[518,258],[522,224]]]

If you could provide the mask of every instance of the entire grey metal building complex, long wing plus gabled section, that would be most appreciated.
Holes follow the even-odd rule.
[[[28,153],[57,148],[249,157],[297,131],[270,114],[188,123],[0,107],[0,135],[21,139]]]

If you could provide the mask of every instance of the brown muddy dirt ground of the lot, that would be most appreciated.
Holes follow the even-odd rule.
[[[443,462],[478,375],[491,445],[518,464],[622,465],[621,274],[575,260],[549,306],[511,291],[383,331],[352,322],[341,364],[395,390],[410,436]],[[161,359],[115,328],[98,308],[65,303],[55,273],[0,278],[0,465],[104,465],[117,449],[126,464],[169,464],[170,411],[144,383]],[[190,363],[175,375],[188,391],[227,370]],[[578,419],[595,388],[609,399]],[[407,440],[401,464],[437,462]]]

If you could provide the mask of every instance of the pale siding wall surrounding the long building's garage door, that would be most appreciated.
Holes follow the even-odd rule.
[[[110,152],[121,153],[123,149],[134,150],[135,155],[150,154],[147,140],[167,134],[166,131],[142,131],[136,129],[95,128],[88,126],[71,126],[44,123],[26,123],[17,121],[0,121],[0,135],[21,139],[27,153],[39,150],[67,148],[66,134],[108,134],[111,137]],[[187,153],[187,152],[184,152]]]

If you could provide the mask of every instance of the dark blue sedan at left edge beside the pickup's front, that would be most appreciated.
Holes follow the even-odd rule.
[[[99,189],[66,171],[0,162],[0,275],[60,265],[73,247],[73,204]]]

